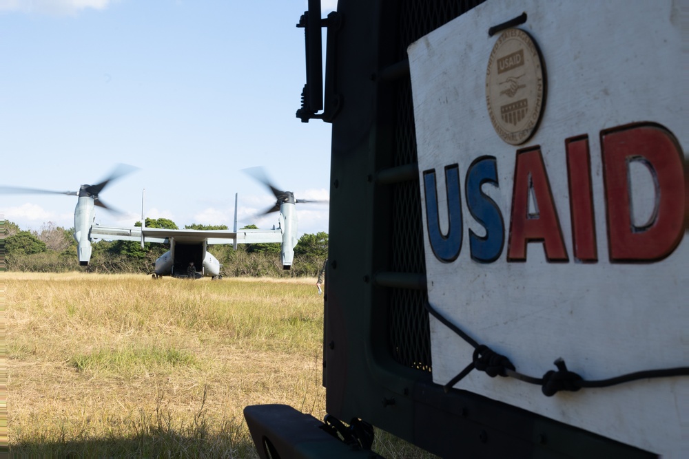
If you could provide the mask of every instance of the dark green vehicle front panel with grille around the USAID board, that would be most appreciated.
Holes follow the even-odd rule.
[[[332,119],[327,412],[442,456],[648,457],[644,451],[431,382],[407,46],[480,1],[344,1],[329,36]]]

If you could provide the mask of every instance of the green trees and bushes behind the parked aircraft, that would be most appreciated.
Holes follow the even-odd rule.
[[[169,250],[164,244],[146,242],[105,241],[93,242],[91,261],[88,266],[79,266],[76,257],[74,228],[44,223],[38,231],[26,231],[13,222],[0,222],[0,250],[4,245],[6,270],[40,273],[61,273],[85,270],[90,273],[142,273],[151,274],[155,261]],[[136,222],[135,226],[141,226]],[[178,229],[167,218],[146,218],[148,228]],[[185,225],[185,229],[226,230],[225,225]],[[242,229],[258,229],[248,225]],[[223,265],[223,276],[238,277],[315,277],[328,253],[328,235],[324,232],[305,234],[294,248],[294,263],[290,270],[283,270],[280,261],[280,244],[240,244],[237,250],[232,245],[209,246],[211,252]],[[0,264],[0,268],[2,268]]]

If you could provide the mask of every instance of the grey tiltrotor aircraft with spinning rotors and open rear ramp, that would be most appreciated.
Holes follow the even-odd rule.
[[[84,184],[79,191],[50,191],[43,189],[0,186],[0,193],[50,193],[79,196],[74,209],[74,239],[78,244],[77,258],[81,266],[87,266],[91,259],[91,242],[94,239],[140,241],[141,247],[145,242],[169,245],[170,250],[156,259],[153,277],[161,276],[187,277],[187,268],[192,262],[196,266],[196,277],[220,277],[220,261],[209,253],[207,247],[213,244],[232,244],[236,250],[238,244],[280,243],[280,259],[282,268],[289,269],[294,258],[294,246],[297,238],[296,203],[318,202],[311,200],[297,200],[291,191],[282,191],[272,185],[263,169],[254,167],[245,169],[249,175],[262,182],[275,195],[276,203],[267,209],[263,215],[279,211],[278,228],[237,229],[237,195],[235,195],[234,230],[192,230],[146,228],[143,216],[143,199],[141,222],[142,226],[105,226],[95,223],[95,207],[114,211],[103,203],[99,193],[107,184],[132,171],[132,167],[119,166],[110,177],[99,184]],[[200,267],[200,271],[198,270]]]

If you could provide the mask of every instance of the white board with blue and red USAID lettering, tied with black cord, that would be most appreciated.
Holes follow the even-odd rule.
[[[409,47],[429,301],[522,374],[689,366],[679,10],[488,1]],[[473,351],[431,317],[435,383]],[[687,376],[544,396],[473,370],[454,387],[689,457]]]

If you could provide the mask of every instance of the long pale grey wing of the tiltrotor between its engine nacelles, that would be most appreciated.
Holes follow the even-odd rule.
[[[169,239],[177,242],[203,242],[206,244],[258,244],[265,242],[282,242],[282,230],[246,229],[231,230],[192,230],[192,229],[167,229],[167,228],[141,228],[141,226],[102,226],[91,227],[92,239],[105,239],[109,241],[141,241],[168,243]]]

